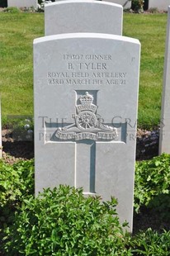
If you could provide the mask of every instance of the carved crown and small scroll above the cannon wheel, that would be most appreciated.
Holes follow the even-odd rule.
[[[85,92],[84,95],[79,97],[80,105],[76,106],[76,109],[79,112],[81,111],[92,111],[95,113],[97,111],[97,106],[92,104],[93,97],[88,92]]]

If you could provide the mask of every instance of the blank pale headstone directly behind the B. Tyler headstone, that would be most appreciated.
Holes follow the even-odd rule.
[[[93,0],[60,1],[45,5],[45,36],[94,32],[122,35],[123,8]]]

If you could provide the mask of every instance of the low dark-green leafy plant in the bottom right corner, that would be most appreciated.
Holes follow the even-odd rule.
[[[151,229],[140,232],[130,239],[132,255],[147,256],[169,256],[170,254],[170,231],[163,231],[162,234]]]

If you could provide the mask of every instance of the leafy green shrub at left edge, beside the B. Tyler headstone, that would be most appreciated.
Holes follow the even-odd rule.
[[[12,214],[23,198],[34,193],[34,162],[17,164],[0,162],[0,229],[11,221]]]

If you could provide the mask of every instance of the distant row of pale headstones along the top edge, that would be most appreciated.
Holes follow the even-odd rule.
[[[106,0],[106,2],[114,2],[122,5],[124,8],[131,7],[130,0]],[[37,0],[7,0],[8,7],[37,7]],[[148,9],[158,8],[158,10],[167,10],[170,0],[149,0]]]

